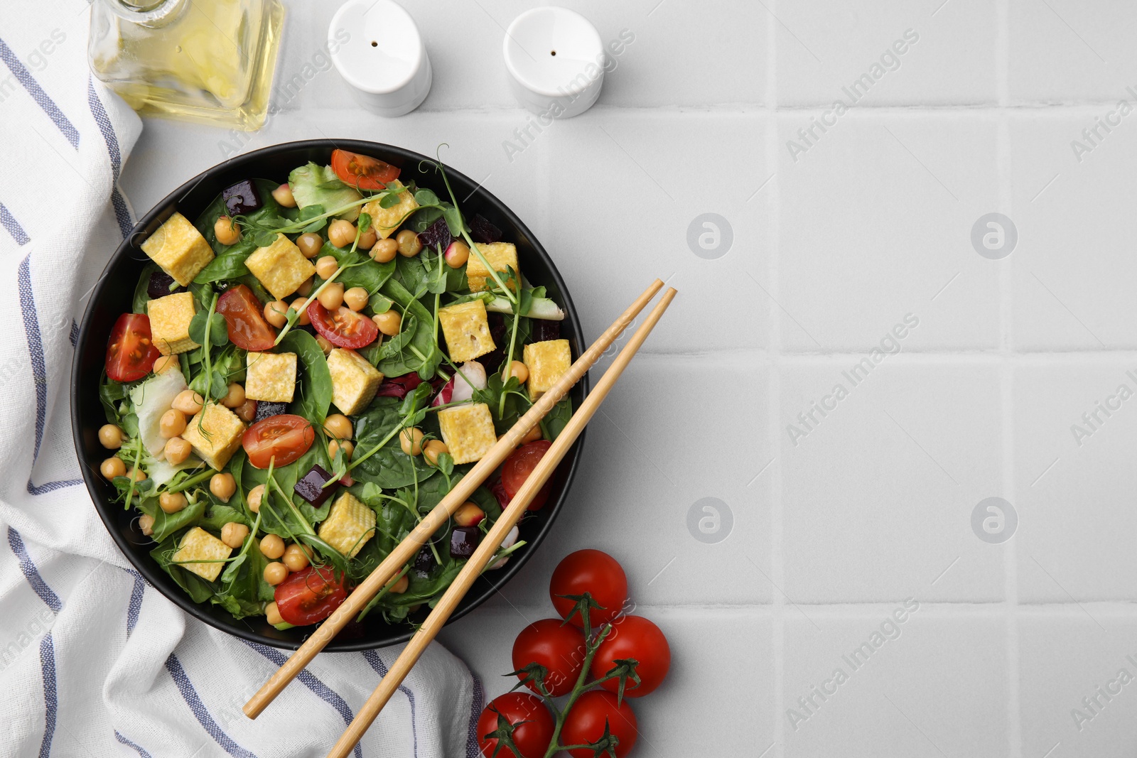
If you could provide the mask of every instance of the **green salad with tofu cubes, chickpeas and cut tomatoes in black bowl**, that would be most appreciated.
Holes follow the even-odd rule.
[[[150,227],[102,336],[99,474],[133,543],[234,620],[326,618],[573,359],[530,242],[463,214],[434,161],[407,176],[334,149]],[[571,415],[565,398],[357,620],[431,606]],[[488,570],[524,544],[515,528]]]

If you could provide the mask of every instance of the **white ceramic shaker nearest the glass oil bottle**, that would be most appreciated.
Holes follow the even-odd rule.
[[[408,114],[430,92],[426,47],[415,19],[393,0],[345,2],[327,28],[327,45],[356,100],[380,116]]]

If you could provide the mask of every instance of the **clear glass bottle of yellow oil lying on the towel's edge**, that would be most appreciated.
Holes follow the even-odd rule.
[[[88,58],[140,114],[252,131],[283,22],[279,0],[93,0]]]

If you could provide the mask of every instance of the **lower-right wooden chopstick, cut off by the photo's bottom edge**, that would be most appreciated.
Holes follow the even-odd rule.
[[[620,355],[608,367],[608,370],[604,373],[600,381],[597,382],[596,388],[588,394],[584,402],[581,403],[580,408],[573,414],[572,418],[565,425],[561,434],[553,442],[553,445],[548,449],[541,460],[530,473],[529,478],[517,491],[517,494],[513,497],[509,501],[509,506],[505,509],[501,516],[498,517],[497,522],[493,523],[493,527],[489,531],[485,538],[482,540],[481,544],[478,545],[478,550],[474,555],[470,557],[466,565],[455,577],[454,582],[442,594],[442,598],[434,606],[430,616],[423,622],[415,635],[410,638],[410,642],[407,647],[402,649],[399,653],[398,659],[388,670],[387,675],[380,681],[379,686],[364,703],[363,708],[356,714],[355,719],[348,725],[347,730],[340,736],[339,741],[332,748],[331,752],[327,753],[327,758],[347,758],[351,750],[355,748],[356,743],[363,739],[364,732],[371,726],[375,717],[390,700],[391,695],[402,683],[402,680],[410,672],[410,668],[418,660],[418,657],[426,649],[426,645],[431,643],[434,636],[442,630],[450,614],[457,608],[458,603],[470,591],[471,585],[474,583],[485,566],[492,560],[493,555],[497,552],[498,548],[501,545],[501,541],[508,534],[509,530],[521,519],[525,514],[525,509],[529,507],[530,501],[541,489],[541,486],[548,481],[548,478],[556,470],[557,464],[565,457],[568,452],[568,448],[572,447],[573,442],[583,431],[584,425],[588,424],[589,419],[604,402],[612,386],[620,378],[620,374],[623,373],[624,368],[631,361],[636,351],[639,350],[640,345],[644,344],[644,340],[652,332],[652,328],[663,316],[663,311],[667,309],[671,303],[672,298],[675,297],[675,290],[669,289],[663,293],[663,298],[659,303],[652,310],[644,324],[636,330],[636,333],[624,345],[624,349],[620,351]]]

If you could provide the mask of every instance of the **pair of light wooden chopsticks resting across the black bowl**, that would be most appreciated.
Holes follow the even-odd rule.
[[[554,405],[561,398],[563,398],[570,389],[592,367],[594,364],[600,358],[605,350],[612,345],[617,336],[632,323],[637,315],[647,306],[648,302],[655,297],[655,294],[663,288],[663,282],[656,280],[652,285],[636,299],[628,310],[620,315],[612,326],[609,326],[599,339],[594,342],[588,350],[586,350],[580,358],[568,368],[564,376],[556,383],[556,385],[541,395],[541,398],[529,409],[514,424],[513,428],[501,435],[497,443],[490,448],[490,450],[482,457],[482,459],[474,465],[474,467],[463,476],[458,483],[455,485],[441,502],[435,506],[430,514],[428,514],[423,520],[416,526],[410,534],[408,534],[402,542],[400,542],[391,553],[352,592],[348,595],[347,600],[324,620],[323,624],[316,630],[316,632],[308,638],[305,643],[284,663],[281,668],[273,674],[273,676],[265,682],[264,686],[252,695],[252,698],[244,705],[244,714],[249,718],[256,718],[259,716],[264,709],[268,706],[272,700],[280,694],[281,690],[291,682],[308,663],[315,658],[316,653],[319,652],[324,645],[326,645],[333,636],[343,626],[363,609],[364,606],[383,588],[385,586],[395,575],[402,569],[402,567],[418,552],[418,550],[426,543],[426,540],[446,523],[448,518],[458,509],[462,503],[464,503],[470,495],[473,493],[478,486],[484,482],[490,474],[492,474],[498,466],[512,453],[520,443],[521,439],[529,433],[530,430],[536,426],[542,417],[553,408]],[[516,525],[521,517],[525,514],[525,509],[532,501],[533,497],[540,491],[541,486],[548,481],[556,470],[557,464],[565,457],[568,449],[575,442],[576,438],[583,431],[584,425],[588,424],[592,415],[599,408],[600,403],[607,397],[612,386],[620,378],[620,375],[626,368],[628,364],[631,363],[632,357],[634,357],[637,350],[647,339],[647,335],[655,327],[656,323],[663,316],[663,313],[667,309],[671,303],[672,298],[675,297],[675,290],[669,289],[664,292],[663,298],[656,305],[656,307],[648,315],[647,319],[636,333],[628,341],[628,344],[620,351],[620,355],[605,372],[600,381],[597,382],[596,388],[589,393],[589,395],[581,403],[576,413],[573,414],[572,418],[565,425],[565,428],[557,435],[557,439],[553,442],[553,445],[548,449],[545,456],[541,458],[540,463],[533,468],[529,478],[522,485],[521,490],[514,495],[513,500],[509,501],[508,507],[503,511],[501,516],[495,522],[493,527],[489,531],[484,539],[482,539],[481,544],[474,551],[474,555],[470,557],[466,565],[455,577],[454,582],[442,594],[439,602],[434,606],[430,616],[423,622],[418,631],[404,648],[402,652],[399,655],[398,659],[391,666],[387,676],[382,678],[379,686],[372,693],[364,707],[359,709],[356,714],[355,719],[343,732],[343,735],[335,743],[329,753],[329,758],[346,758],[351,750],[355,748],[356,743],[363,738],[364,732],[371,726],[375,717],[379,716],[380,710],[387,705],[387,701],[391,698],[395,691],[398,689],[399,684],[409,673],[410,668],[418,660],[418,657],[426,649],[426,645],[434,639],[434,636],[441,631],[442,625],[449,619],[450,614],[458,606],[462,599],[465,597],[466,592],[470,591],[471,585],[474,583],[489,561],[493,558],[501,542],[505,540],[509,530]]]

